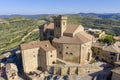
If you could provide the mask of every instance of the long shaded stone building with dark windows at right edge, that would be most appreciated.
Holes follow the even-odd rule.
[[[92,52],[93,57],[102,61],[109,63],[120,61],[120,42],[112,45],[93,43]]]

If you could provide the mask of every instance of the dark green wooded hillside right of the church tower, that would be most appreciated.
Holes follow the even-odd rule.
[[[69,23],[82,24],[85,28],[104,30],[108,34],[120,35],[120,20],[92,16],[68,15]]]

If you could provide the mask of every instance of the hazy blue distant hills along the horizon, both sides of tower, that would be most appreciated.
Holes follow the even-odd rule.
[[[13,14],[13,15],[0,15],[0,18],[9,18],[9,17],[16,17],[16,16],[21,16],[21,17],[26,17],[26,18],[33,18],[33,19],[38,19],[41,17],[45,16],[51,16],[54,14],[37,14],[37,15],[21,15],[21,14]],[[114,19],[119,19],[120,20],[120,13],[78,13],[78,14],[65,14],[65,15],[80,15],[83,17],[94,17],[94,18],[114,18]]]

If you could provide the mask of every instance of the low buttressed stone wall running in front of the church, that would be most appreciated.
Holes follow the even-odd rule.
[[[53,74],[59,75],[83,75],[86,73],[101,71],[103,68],[100,68],[96,64],[88,64],[88,65],[54,65],[52,68],[49,68],[48,71],[51,71]]]

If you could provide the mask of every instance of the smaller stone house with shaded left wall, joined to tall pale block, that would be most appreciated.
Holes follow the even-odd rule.
[[[38,59],[38,61],[40,61],[39,67],[41,67],[42,70],[45,71],[47,70],[48,66],[53,66],[56,63],[57,52],[49,41],[42,41],[40,45],[40,52],[38,53],[38,55],[40,56],[40,58]]]

